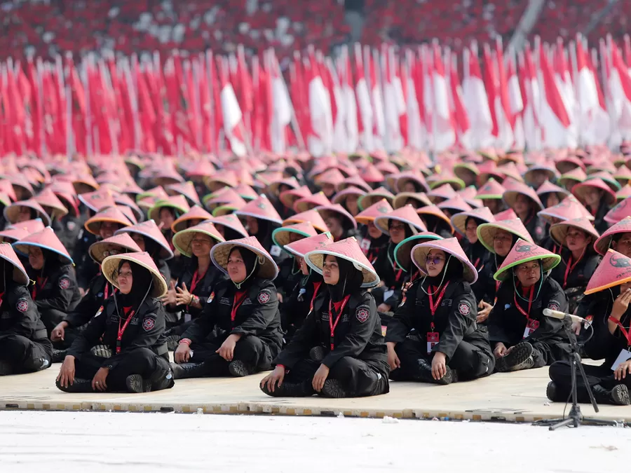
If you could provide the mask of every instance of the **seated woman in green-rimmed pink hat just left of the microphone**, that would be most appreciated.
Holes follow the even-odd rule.
[[[518,240],[495,273],[502,281],[489,315],[489,339],[497,371],[541,368],[569,355],[563,320],[545,317],[543,309],[567,312],[558,282],[548,277],[561,256]]]

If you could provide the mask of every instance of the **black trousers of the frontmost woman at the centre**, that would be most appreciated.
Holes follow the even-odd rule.
[[[320,364],[312,359],[301,359],[287,373],[284,383],[308,382],[311,384],[313,375],[315,371],[318,371]],[[329,379],[339,381],[346,391],[346,397],[377,396],[390,392],[387,371],[382,372],[376,366],[353,357],[343,357],[331,366],[329,376],[327,376],[327,380]]]

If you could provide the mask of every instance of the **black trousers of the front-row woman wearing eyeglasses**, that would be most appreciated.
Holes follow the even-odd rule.
[[[395,352],[401,362],[401,367],[390,374],[395,381],[413,381],[421,370],[419,359],[430,361],[434,357],[433,353],[428,355],[426,342],[419,338],[406,338],[405,341],[397,343]],[[467,381],[493,373],[495,359],[479,347],[461,341],[454,356],[447,360],[447,366],[458,372],[459,380]]]

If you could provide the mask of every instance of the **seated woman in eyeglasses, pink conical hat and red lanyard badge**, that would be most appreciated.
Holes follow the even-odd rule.
[[[414,264],[427,276],[407,290],[405,302],[388,324],[386,343],[391,378],[449,384],[493,372],[487,331],[475,322],[470,283],[477,271],[456,238],[412,249]],[[416,335],[409,337],[414,329]]]

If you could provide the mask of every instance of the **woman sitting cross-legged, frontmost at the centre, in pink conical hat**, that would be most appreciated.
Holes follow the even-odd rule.
[[[364,397],[386,394],[388,359],[374,299],[362,287],[379,282],[355,238],[305,254],[323,273],[313,310],[274,360],[261,389],[276,397]],[[285,373],[287,371],[287,373]]]

